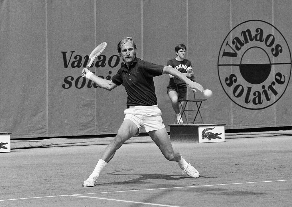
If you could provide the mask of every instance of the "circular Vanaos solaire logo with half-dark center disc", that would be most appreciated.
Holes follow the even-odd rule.
[[[227,96],[242,108],[272,106],[291,77],[291,52],[281,32],[262,20],[248,20],[225,37],[218,75]]]

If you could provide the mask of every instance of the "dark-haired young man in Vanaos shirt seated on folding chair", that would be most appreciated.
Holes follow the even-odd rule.
[[[185,53],[187,47],[184,44],[179,44],[175,47],[176,58],[173,58],[167,62],[169,67],[175,68],[180,71],[186,77],[193,79],[194,73],[192,69],[191,61],[185,59]],[[181,116],[181,109],[178,100],[187,98],[187,84],[185,83],[175,83],[176,77],[169,74],[169,83],[166,87],[166,92],[171,100],[171,106],[175,111],[176,124],[183,124],[183,119]],[[182,103],[184,104],[184,103]]]

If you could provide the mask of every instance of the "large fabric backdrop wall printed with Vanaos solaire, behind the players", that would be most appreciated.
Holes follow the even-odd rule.
[[[201,107],[204,123],[291,126],[291,8],[290,0],[0,1],[0,132],[117,133],[124,87],[108,92],[81,70],[107,42],[91,71],[111,79],[122,62],[117,43],[127,36],[139,58],[161,65],[176,57],[176,45],[187,46],[196,81],[213,91]],[[168,80],[154,78],[167,130],[175,118]]]

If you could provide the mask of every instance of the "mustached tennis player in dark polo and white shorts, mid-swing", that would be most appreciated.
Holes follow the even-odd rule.
[[[100,171],[113,158],[117,149],[126,140],[138,135],[142,128],[148,132],[166,159],[178,162],[180,168],[190,177],[199,177],[199,172],[187,163],[180,153],[173,151],[170,138],[161,118],[161,111],[157,106],[153,77],[167,73],[184,81],[194,91],[196,89],[203,91],[204,89],[199,83],[192,82],[174,68],[153,64],[137,58],[136,49],[132,37],[126,37],[118,43],[118,53],[125,63],[121,65],[112,80],[102,79],[86,68],[82,71],[85,71],[86,78],[109,91],[122,84],[128,95],[127,109],[124,111],[124,122],[121,124],[114,140],[102,153],[91,175],[84,181],[84,187],[91,187],[97,184]]]

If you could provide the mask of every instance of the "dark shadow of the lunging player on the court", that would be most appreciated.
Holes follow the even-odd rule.
[[[128,170],[115,170],[112,173],[106,173],[105,175],[126,175],[126,176],[141,176],[138,178],[135,178],[133,180],[127,180],[122,182],[114,182],[111,184],[124,184],[124,183],[136,183],[143,180],[150,180],[150,179],[156,179],[156,180],[182,180],[182,179],[189,179],[190,177],[188,175],[177,177],[178,175],[165,175],[165,174],[158,174],[158,173],[150,173],[150,174],[118,174],[117,172],[124,172],[124,171],[130,171],[132,169]],[[108,183],[101,183],[102,184],[108,184]]]

